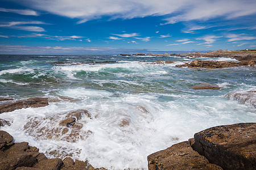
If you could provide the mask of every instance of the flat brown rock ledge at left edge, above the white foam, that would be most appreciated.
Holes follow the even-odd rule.
[[[12,112],[16,109],[22,108],[38,108],[45,107],[48,105],[48,100],[46,97],[33,97],[30,99],[24,100],[10,100],[10,101],[1,101],[0,102],[0,113],[3,112]]]

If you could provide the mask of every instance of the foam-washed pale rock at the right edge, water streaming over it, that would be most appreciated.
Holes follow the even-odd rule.
[[[256,91],[230,92],[226,94],[227,99],[237,100],[240,103],[256,108]]]

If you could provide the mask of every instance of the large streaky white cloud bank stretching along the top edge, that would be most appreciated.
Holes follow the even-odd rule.
[[[233,19],[256,12],[254,0],[162,0],[161,2],[158,0],[23,0],[20,3],[52,14],[79,18],[79,23],[102,16],[109,16],[111,19],[131,19],[145,16],[167,16],[167,14],[172,15],[166,18],[167,23],[177,23],[189,20],[208,20],[218,16]]]

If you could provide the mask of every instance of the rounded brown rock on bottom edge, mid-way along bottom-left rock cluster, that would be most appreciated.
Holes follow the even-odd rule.
[[[59,170],[63,165],[63,162],[59,158],[42,160],[35,164],[33,168],[42,170]]]

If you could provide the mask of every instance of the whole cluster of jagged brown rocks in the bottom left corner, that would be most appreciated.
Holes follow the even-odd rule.
[[[13,137],[6,131],[0,130],[0,169],[2,170],[106,170],[93,168],[87,161],[72,158],[47,159],[36,147],[27,142],[13,143]]]

